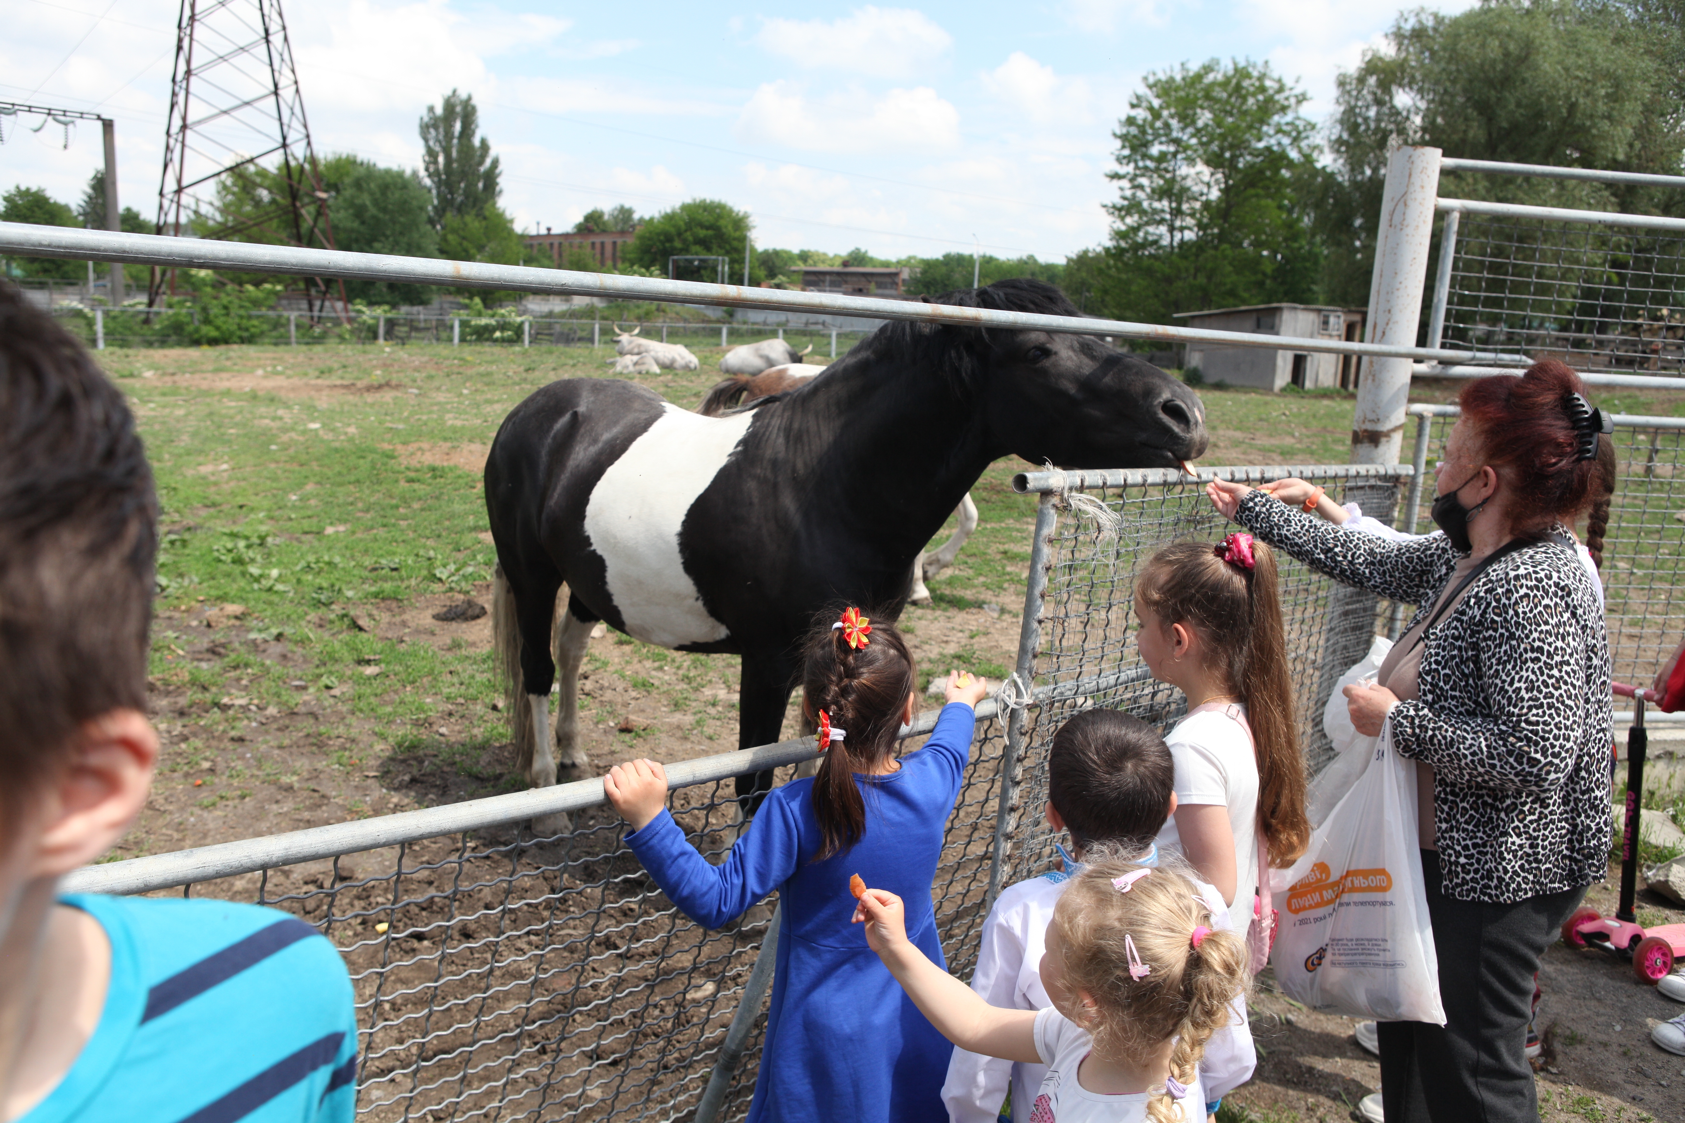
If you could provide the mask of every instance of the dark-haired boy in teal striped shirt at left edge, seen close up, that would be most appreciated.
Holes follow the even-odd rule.
[[[147,803],[158,505],[88,352],[0,285],[0,1118],[344,1120],[334,946],[226,901],[59,896]]]

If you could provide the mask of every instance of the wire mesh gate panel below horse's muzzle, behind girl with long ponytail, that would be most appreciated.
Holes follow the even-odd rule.
[[[1225,478],[1230,473],[1213,471]],[[1348,480],[1338,470],[1314,468],[1274,475],[1308,478],[1388,524],[1400,495],[1399,475]],[[1003,870],[1003,884],[1040,874],[1055,859],[1056,835],[1040,812],[1048,791],[1048,744],[1068,717],[1105,705],[1168,731],[1185,714],[1181,692],[1154,680],[1136,650],[1136,579],[1161,547],[1188,539],[1215,546],[1235,529],[1213,510],[1203,480],[1181,476],[1087,493],[1122,524],[1115,535],[1105,534],[1094,517],[1073,508],[1060,515],[1046,547],[1048,588],[1035,653],[1035,689],[1045,700],[1030,711],[1014,766],[1009,867]],[[1276,557],[1296,717],[1314,771],[1331,756],[1323,705],[1340,673],[1368,652],[1383,628],[1385,603],[1336,584],[1279,551]]]

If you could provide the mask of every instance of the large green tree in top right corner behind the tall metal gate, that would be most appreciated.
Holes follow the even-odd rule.
[[[1447,157],[1678,173],[1685,61],[1678,3],[1488,0],[1459,15],[1400,15],[1387,45],[1338,79],[1333,175],[1316,200],[1324,285],[1368,296],[1375,227],[1397,145]],[[1599,210],[1678,207],[1678,192],[1447,173],[1442,195]]]

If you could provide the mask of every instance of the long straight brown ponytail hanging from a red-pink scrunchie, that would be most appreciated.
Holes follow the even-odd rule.
[[[1252,544],[1255,566],[1247,583],[1250,643],[1235,689],[1247,704],[1247,724],[1259,758],[1259,828],[1269,840],[1270,865],[1292,865],[1311,842],[1304,813],[1304,756],[1292,717],[1287,636],[1281,621],[1276,552]],[[1259,870],[1259,881],[1269,872]]]

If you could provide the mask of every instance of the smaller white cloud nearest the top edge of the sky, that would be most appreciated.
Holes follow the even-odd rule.
[[[767,20],[755,42],[802,67],[922,77],[954,45],[923,12],[866,5],[837,20]]]

